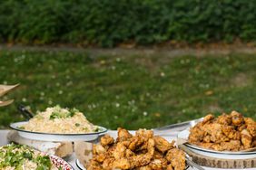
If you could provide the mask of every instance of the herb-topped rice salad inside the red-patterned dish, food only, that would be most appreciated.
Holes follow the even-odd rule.
[[[49,156],[29,146],[10,144],[0,147],[0,169],[2,170],[60,170]]]

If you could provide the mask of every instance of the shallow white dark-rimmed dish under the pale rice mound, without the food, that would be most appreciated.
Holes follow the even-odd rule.
[[[85,133],[85,134],[51,134],[42,132],[31,132],[28,130],[21,129],[27,121],[12,123],[11,128],[15,129],[20,137],[25,137],[34,140],[42,141],[92,141],[95,140],[99,135],[107,132],[105,127],[99,127],[99,132]]]

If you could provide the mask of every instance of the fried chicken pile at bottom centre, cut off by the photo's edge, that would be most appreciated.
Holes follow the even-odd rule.
[[[153,136],[152,130],[139,129],[135,136],[118,128],[118,137],[105,135],[94,145],[93,158],[87,170],[183,170],[185,154],[162,137]]]

